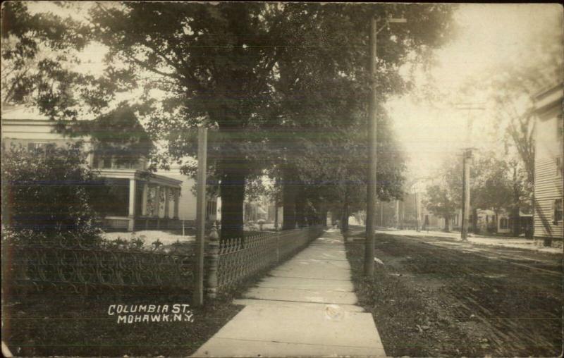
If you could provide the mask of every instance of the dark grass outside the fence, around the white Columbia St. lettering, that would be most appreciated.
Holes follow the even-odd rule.
[[[242,307],[221,295],[204,307],[188,307],[193,322],[118,323],[111,304],[190,304],[188,292],[129,294],[30,292],[3,302],[2,340],[15,356],[185,357],[219,331]],[[162,307],[162,306],[161,306]],[[172,308],[171,308],[172,309]],[[113,313],[113,312],[112,312]]]

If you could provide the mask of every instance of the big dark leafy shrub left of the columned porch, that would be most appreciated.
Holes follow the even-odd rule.
[[[2,222],[11,237],[99,242],[97,205],[104,203],[107,187],[88,168],[80,149],[81,144],[36,151],[3,148]]]

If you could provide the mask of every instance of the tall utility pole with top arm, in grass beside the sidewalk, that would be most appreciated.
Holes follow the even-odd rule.
[[[384,25],[376,28],[376,18],[370,19],[370,87],[372,95],[369,104],[369,124],[368,124],[368,185],[367,185],[367,210],[366,210],[366,240],[364,240],[364,276],[372,277],[374,274],[374,225],[376,216],[376,117],[378,116],[378,102],[376,101],[376,37],[384,27],[390,23],[405,23],[405,18],[388,18]]]

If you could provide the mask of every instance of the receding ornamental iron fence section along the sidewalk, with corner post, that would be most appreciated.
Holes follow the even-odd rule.
[[[216,278],[208,278],[207,292],[216,292],[238,285],[241,281],[255,276],[274,264],[288,259],[305,248],[323,232],[323,226],[309,226],[276,233],[221,240],[216,254],[209,261],[217,265],[209,267]],[[216,257],[213,257],[214,254]],[[213,287],[216,285],[216,287]],[[212,286],[212,287],[210,287]]]

